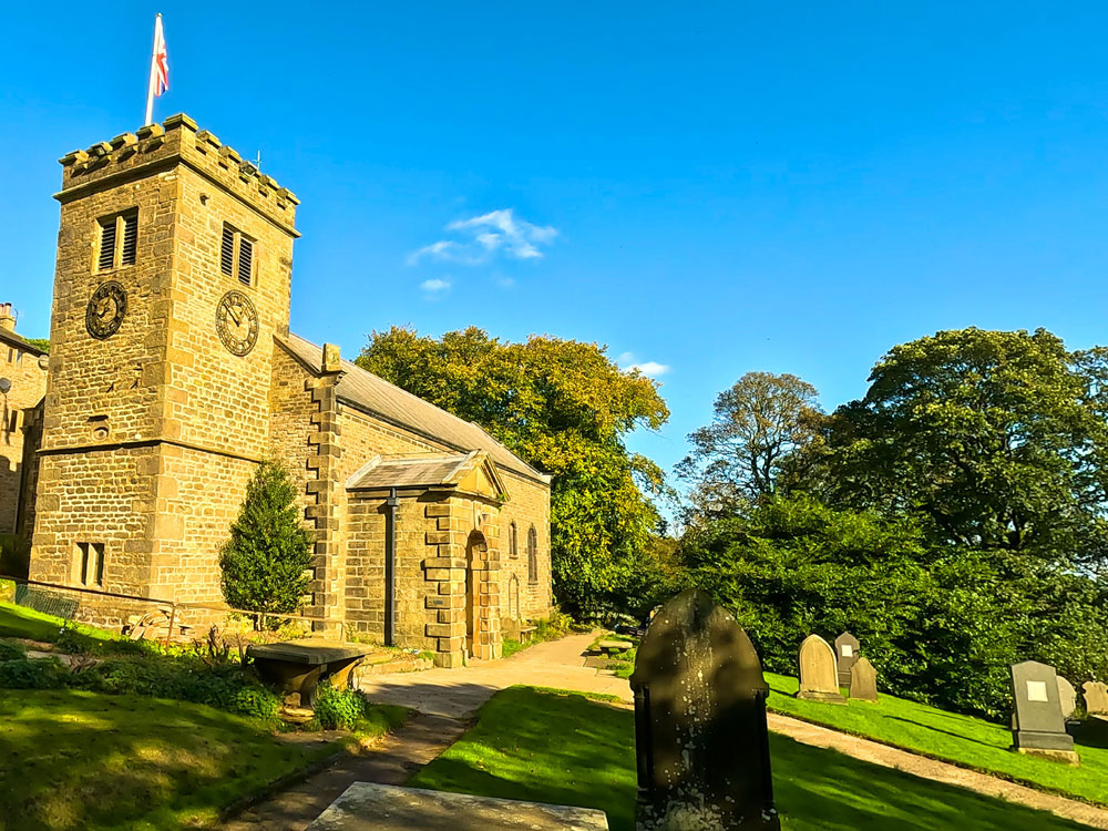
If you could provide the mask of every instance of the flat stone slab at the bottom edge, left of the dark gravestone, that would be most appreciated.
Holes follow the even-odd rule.
[[[306,831],[607,831],[604,811],[355,782]]]

